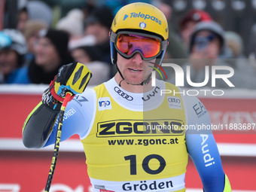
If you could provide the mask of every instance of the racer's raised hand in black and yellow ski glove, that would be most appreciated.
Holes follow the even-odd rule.
[[[59,102],[63,102],[66,93],[83,93],[92,77],[92,73],[80,62],[73,62],[59,68],[58,74],[50,84],[52,96]],[[71,99],[72,99],[71,98]]]

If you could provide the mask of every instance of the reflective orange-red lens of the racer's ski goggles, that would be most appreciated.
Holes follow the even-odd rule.
[[[157,56],[160,53],[160,39],[142,35],[119,34],[116,45],[117,49],[127,56],[138,50],[145,58]]]

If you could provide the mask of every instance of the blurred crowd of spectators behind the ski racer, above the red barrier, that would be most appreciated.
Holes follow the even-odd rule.
[[[81,62],[93,72],[90,85],[113,77],[116,69],[111,64],[108,36],[111,22],[119,8],[136,1],[107,0],[101,5],[97,1],[75,1],[73,5],[77,6],[62,10],[59,17],[55,1],[23,2],[16,29],[0,31],[0,84],[50,84],[59,67],[70,62]],[[251,53],[245,56],[241,36],[225,31],[206,11],[191,9],[184,13],[177,31],[170,5],[140,2],[160,8],[169,22],[169,46],[163,62],[174,59],[184,71],[189,66],[194,83],[205,80],[206,66],[230,66],[234,69],[230,81],[236,87],[256,89],[256,26],[251,27]],[[167,74],[168,81],[175,84],[175,73]],[[215,86],[228,87],[221,80]]]

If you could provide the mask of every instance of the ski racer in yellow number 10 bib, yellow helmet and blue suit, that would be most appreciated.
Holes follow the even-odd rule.
[[[157,79],[152,84],[151,74],[160,68],[168,34],[166,17],[153,5],[121,8],[110,30],[116,75],[91,90],[81,90],[67,105],[72,115],[62,123],[62,140],[80,136],[93,191],[185,191],[188,154],[205,191],[231,191],[212,131],[202,135],[181,128],[197,123],[210,126],[206,108],[196,97],[182,96],[173,84]],[[55,142],[62,94],[76,93],[90,75],[80,64],[59,69],[56,81],[29,115],[23,127],[26,147]],[[175,92],[161,96],[160,90]],[[199,106],[204,111],[197,116],[194,108]]]

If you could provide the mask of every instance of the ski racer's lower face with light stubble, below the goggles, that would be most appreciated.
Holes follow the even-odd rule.
[[[138,85],[145,81],[151,75],[155,61],[156,59],[143,60],[140,53],[135,53],[130,59],[125,59],[117,53],[117,67],[128,84]]]

